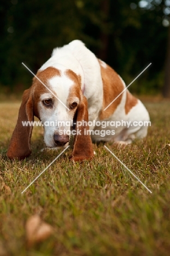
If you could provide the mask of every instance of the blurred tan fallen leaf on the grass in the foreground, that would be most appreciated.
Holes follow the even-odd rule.
[[[52,232],[52,226],[43,222],[37,214],[31,216],[26,223],[28,247],[32,246],[34,243],[44,241]]]

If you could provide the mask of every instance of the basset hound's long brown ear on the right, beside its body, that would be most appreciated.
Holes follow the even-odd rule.
[[[86,131],[89,130],[89,126],[82,125],[77,127],[78,122],[82,122],[83,120],[88,123],[87,100],[84,96],[82,96],[80,105],[77,108],[76,131],[78,129],[81,135],[76,134],[74,137],[74,148],[70,160],[81,161],[83,159],[90,159],[94,156],[92,139],[90,135],[86,135]]]

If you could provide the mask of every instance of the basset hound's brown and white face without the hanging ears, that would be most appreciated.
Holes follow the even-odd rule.
[[[80,77],[71,70],[52,67],[38,72],[37,77],[47,86],[34,78],[34,108],[44,126],[45,144],[50,148],[67,146],[70,125],[82,98]]]

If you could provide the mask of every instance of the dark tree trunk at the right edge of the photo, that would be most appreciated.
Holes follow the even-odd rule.
[[[165,80],[162,93],[163,97],[170,98],[170,26],[168,30],[167,56],[165,62]]]

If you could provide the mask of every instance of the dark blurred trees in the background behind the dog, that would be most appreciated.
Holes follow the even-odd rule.
[[[151,62],[130,91],[170,97],[169,14],[170,0],[1,0],[1,89],[22,92],[32,74],[21,62],[36,73],[53,48],[80,39],[126,84]]]

